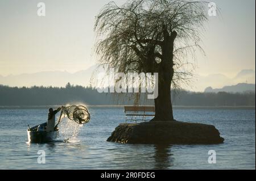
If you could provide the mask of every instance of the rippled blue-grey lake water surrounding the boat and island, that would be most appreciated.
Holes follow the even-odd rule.
[[[77,128],[61,125],[59,140],[27,144],[27,125],[47,119],[47,110],[0,110],[0,169],[255,169],[255,110],[175,110],[177,120],[213,124],[225,138],[219,145],[122,145],[106,142],[123,108],[90,107],[91,121]],[[38,150],[46,164],[38,163]],[[215,150],[217,163],[208,163]]]

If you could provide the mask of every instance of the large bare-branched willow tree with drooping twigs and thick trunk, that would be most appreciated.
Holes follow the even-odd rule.
[[[181,69],[199,47],[208,20],[205,2],[131,0],[105,5],[96,17],[96,52],[101,64],[122,73],[158,73],[154,121],[174,120],[171,86],[190,75]],[[183,70],[183,71],[181,71]]]

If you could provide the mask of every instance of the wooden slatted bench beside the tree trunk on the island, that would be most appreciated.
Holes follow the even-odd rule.
[[[154,106],[125,106],[125,123],[127,121],[148,121],[146,117],[155,116],[155,107]],[[129,119],[131,117],[131,119]],[[135,117],[135,119],[134,119]],[[142,117],[142,119],[137,119],[137,117]]]

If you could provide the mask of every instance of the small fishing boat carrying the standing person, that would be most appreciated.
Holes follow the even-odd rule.
[[[46,131],[47,123],[37,125],[27,129],[28,142],[42,143],[50,142],[59,137],[59,128],[55,128],[54,132]]]

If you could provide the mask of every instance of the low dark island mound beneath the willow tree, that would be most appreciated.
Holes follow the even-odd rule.
[[[213,125],[180,121],[120,124],[107,141],[122,144],[221,144]]]

